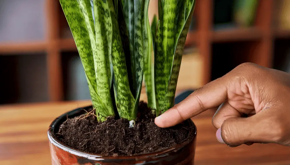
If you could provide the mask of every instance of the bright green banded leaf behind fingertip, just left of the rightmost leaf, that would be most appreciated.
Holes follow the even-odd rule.
[[[160,2],[162,4],[162,1]],[[168,108],[168,100],[165,98],[167,92],[168,81],[171,74],[171,68],[174,57],[174,44],[175,44],[175,32],[178,16],[178,2],[175,0],[164,1],[163,6],[163,20],[160,19],[160,26],[157,27],[157,36],[155,47],[161,47],[162,53],[156,54],[156,74],[155,74],[155,87],[156,87],[156,100],[157,100],[157,116],[161,114],[163,110]],[[158,39],[157,39],[158,38]],[[162,42],[161,45],[159,42]],[[159,49],[159,48],[157,48]],[[155,56],[155,55],[154,55]],[[155,61],[155,60],[154,60]]]

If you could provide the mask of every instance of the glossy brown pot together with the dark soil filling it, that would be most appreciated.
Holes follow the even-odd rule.
[[[89,111],[90,107],[84,109]],[[98,123],[93,114],[87,114],[81,108],[69,112],[68,119],[66,114],[62,115],[48,131],[52,161],[64,165],[69,165],[73,158],[79,164],[86,161],[101,165],[146,164],[153,163],[152,160],[157,160],[153,164],[169,160],[169,164],[192,164],[196,128],[191,120],[171,128],[159,128],[154,123],[155,116],[143,102],[139,104],[138,116],[135,127],[129,128],[125,119],[108,118],[104,123]],[[62,153],[63,160],[57,153]],[[94,155],[98,161],[90,160],[88,155]],[[64,158],[71,160],[67,162]],[[82,159],[86,161],[80,162]]]

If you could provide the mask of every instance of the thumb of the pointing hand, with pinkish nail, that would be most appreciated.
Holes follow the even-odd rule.
[[[244,143],[270,143],[275,138],[269,120],[261,118],[263,115],[253,115],[248,118],[229,118],[224,120],[217,131],[217,139],[229,146],[239,146]],[[220,132],[220,134],[219,134]]]

